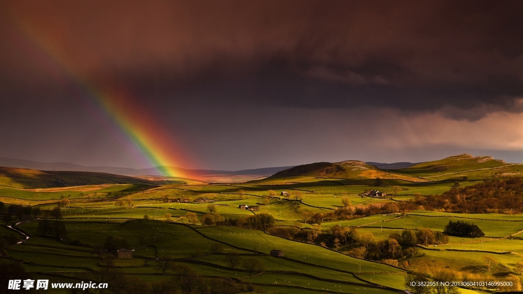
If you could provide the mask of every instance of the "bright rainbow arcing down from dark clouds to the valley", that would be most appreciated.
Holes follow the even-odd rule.
[[[143,159],[160,174],[184,177],[180,169],[173,166],[187,166],[186,156],[180,154],[179,146],[172,140],[170,132],[147,113],[142,105],[138,105],[136,99],[125,88],[113,84],[100,86],[89,81],[75,70],[74,64],[67,61],[65,55],[56,49],[55,44],[27,25],[20,24],[12,28],[10,35],[32,61],[59,79],[64,87],[72,90],[74,96],[89,99],[88,104],[95,105],[96,111],[103,112],[95,116],[107,117],[124,137],[132,142]]]

